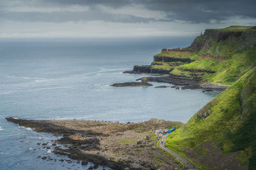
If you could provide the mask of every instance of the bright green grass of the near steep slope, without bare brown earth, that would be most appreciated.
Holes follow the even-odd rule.
[[[242,103],[241,95],[244,96]],[[223,155],[251,150],[246,152],[247,157],[241,164],[248,160],[250,169],[256,169],[256,67],[205,107],[211,110],[211,115],[196,119],[196,113],[184,126],[168,136],[166,145],[186,157],[184,148],[195,150],[205,142],[214,140]],[[243,110],[246,112],[241,119]]]

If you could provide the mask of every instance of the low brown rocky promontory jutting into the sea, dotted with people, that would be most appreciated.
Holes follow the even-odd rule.
[[[176,169],[181,165],[179,160],[156,145],[158,138],[152,132],[170,127],[179,129],[181,122],[152,119],[136,124],[120,124],[96,120],[22,120],[12,117],[6,120],[31,127],[36,132],[61,136],[51,145],[53,153],[65,155],[73,162],[78,160],[77,163],[82,165],[93,162],[92,168],[95,169],[99,165],[112,169]],[[47,143],[38,145],[45,147]]]

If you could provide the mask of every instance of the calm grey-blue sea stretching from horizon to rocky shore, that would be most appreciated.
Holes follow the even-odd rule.
[[[186,123],[219,92],[154,88],[166,83],[109,85],[149,76],[122,72],[150,64],[162,48],[189,46],[193,39],[0,39],[0,169],[92,165],[68,163],[67,157],[52,153],[51,141],[60,137],[19,127],[6,117],[122,123],[163,118]],[[45,148],[37,145],[46,142]]]

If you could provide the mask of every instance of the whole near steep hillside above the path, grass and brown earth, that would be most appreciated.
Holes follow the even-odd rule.
[[[246,55],[243,58],[247,59]],[[256,62],[227,90],[172,132],[166,146],[200,169],[256,169],[255,137]]]

